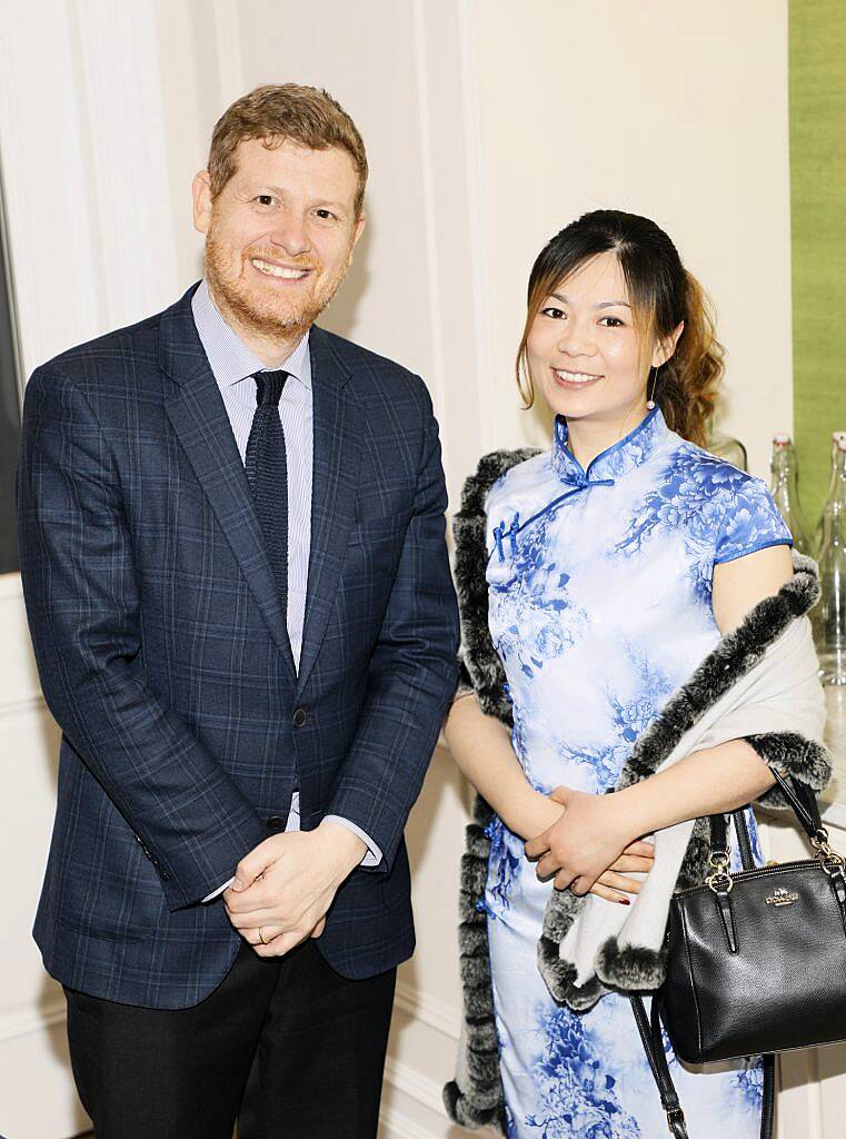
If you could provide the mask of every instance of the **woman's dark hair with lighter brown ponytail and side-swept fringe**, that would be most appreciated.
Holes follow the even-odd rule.
[[[517,351],[517,386],[526,408],[534,403],[526,342],[544,301],[576,269],[600,253],[614,253],[623,270],[641,345],[641,362],[681,321],[675,352],[650,385],[670,428],[704,446],[723,374],[723,346],[714,311],[675,246],[654,221],[619,210],[596,210],[570,222],[541,249],[528,279],[528,311]]]

